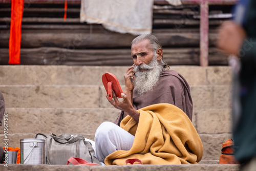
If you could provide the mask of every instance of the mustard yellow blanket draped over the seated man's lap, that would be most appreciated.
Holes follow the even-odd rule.
[[[129,151],[119,150],[105,158],[106,165],[125,165],[137,158],[143,164],[197,164],[203,156],[198,133],[178,107],[160,103],[138,110],[139,123],[126,116],[121,127],[135,136]]]

